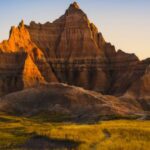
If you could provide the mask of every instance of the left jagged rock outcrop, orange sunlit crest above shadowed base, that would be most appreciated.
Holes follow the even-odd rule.
[[[43,52],[31,41],[23,21],[0,44],[0,95],[43,82],[57,82]]]

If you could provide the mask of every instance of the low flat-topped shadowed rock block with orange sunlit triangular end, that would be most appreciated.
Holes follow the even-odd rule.
[[[45,83],[27,53],[0,54],[0,95]]]

